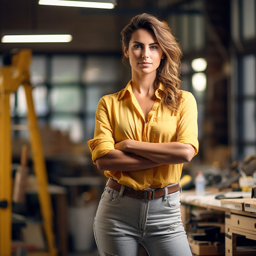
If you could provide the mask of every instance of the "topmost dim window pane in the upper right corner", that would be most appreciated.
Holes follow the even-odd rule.
[[[256,35],[255,0],[243,0],[243,37],[254,38]]]

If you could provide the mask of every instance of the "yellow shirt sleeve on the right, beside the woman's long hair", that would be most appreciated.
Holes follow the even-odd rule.
[[[177,141],[190,144],[198,153],[197,105],[193,94],[186,92],[180,107]]]

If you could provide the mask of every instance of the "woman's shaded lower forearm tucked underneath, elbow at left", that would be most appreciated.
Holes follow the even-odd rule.
[[[96,164],[100,170],[122,172],[138,171],[161,165],[145,157],[127,154],[116,149],[96,159]]]

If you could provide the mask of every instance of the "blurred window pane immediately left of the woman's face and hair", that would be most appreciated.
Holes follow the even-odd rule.
[[[84,83],[115,82],[118,80],[118,59],[115,57],[89,57],[85,60]]]

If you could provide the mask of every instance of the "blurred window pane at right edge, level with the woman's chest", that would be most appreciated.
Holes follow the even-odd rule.
[[[256,140],[256,105],[254,100],[247,100],[243,104],[243,138],[245,141]]]

